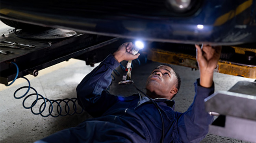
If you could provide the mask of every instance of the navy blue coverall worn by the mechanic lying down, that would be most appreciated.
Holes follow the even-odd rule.
[[[159,143],[162,121],[152,101],[141,102],[141,95],[118,97],[104,91],[111,83],[112,71],[120,65],[110,54],[78,85],[79,105],[94,118],[74,128],[59,131],[42,139],[49,143]],[[157,98],[165,125],[165,143],[198,143],[212,123],[204,108],[204,98],[214,92],[194,83],[195,98],[189,109],[175,112],[173,100]],[[145,98],[144,98],[145,99]]]

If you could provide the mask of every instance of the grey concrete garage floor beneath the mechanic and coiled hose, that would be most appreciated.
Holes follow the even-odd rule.
[[[152,69],[160,63],[148,62],[141,66],[135,66],[132,71],[132,79],[139,89],[145,91],[145,81]],[[98,65],[98,64],[96,64]],[[95,65],[95,66],[96,66]],[[176,101],[176,111],[184,112],[192,103],[194,98],[194,81],[199,77],[198,71],[191,71],[190,68],[174,66],[180,73],[182,84],[178,95],[174,98]],[[85,65],[85,62],[71,59],[68,62],[62,62],[52,67],[39,71],[39,76],[34,78],[31,75],[26,76],[39,94],[48,99],[64,99],[76,97],[76,86],[83,77],[88,74],[93,67]],[[122,74],[120,67],[117,68]],[[115,95],[129,96],[137,92],[130,85],[119,86],[117,82],[121,77],[116,76],[116,80],[110,87],[110,92]],[[230,76],[226,74],[215,73],[215,90],[227,91],[237,81],[254,79]],[[75,127],[87,118],[91,118],[86,112],[80,115],[52,118],[43,118],[40,115],[33,115],[29,109],[22,107],[22,99],[13,98],[13,92],[28,83],[20,78],[10,87],[0,85],[0,142],[1,143],[31,143],[44,138],[54,132],[69,127]],[[23,91],[25,92],[25,90]],[[22,95],[22,91],[18,92]],[[31,92],[33,93],[33,92]],[[29,99],[31,105],[32,99]],[[35,108],[36,109],[36,108]],[[236,139],[225,138],[215,135],[207,135],[201,143],[247,143]]]

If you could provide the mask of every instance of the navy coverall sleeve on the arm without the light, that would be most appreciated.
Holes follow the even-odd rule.
[[[214,92],[214,83],[210,88],[201,87],[199,79],[194,83],[195,98],[189,109],[180,114],[178,132],[184,143],[199,143],[208,133],[213,116],[205,111],[204,99]]]

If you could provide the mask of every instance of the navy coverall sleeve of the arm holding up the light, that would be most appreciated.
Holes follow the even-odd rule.
[[[110,85],[111,73],[119,65],[110,54],[76,88],[78,104],[91,116],[101,116],[117,101],[117,96],[108,94],[104,89]]]

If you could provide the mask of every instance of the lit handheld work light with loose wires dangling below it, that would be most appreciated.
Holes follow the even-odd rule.
[[[132,49],[132,54],[137,54],[139,52],[140,49],[144,48],[144,44],[141,41],[136,41],[135,42],[135,47],[134,49]],[[124,75],[122,76],[122,81],[120,81],[118,84],[119,85],[126,85],[126,84],[131,84],[134,83],[134,81],[132,80],[132,60],[129,60],[128,63],[126,64],[126,69],[124,72]]]

